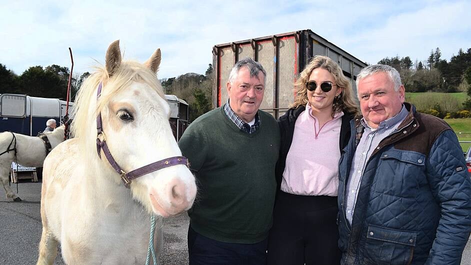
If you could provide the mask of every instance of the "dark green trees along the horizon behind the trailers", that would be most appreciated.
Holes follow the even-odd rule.
[[[385,57],[378,63],[396,68],[408,92],[466,92],[467,100],[461,109],[471,111],[471,48],[459,49],[450,60],[441,58],[437,47],[430,51],[427,60],[412,61],[409,56]],[[30,96],[65,99],[69,69],[52,64],[46,67],[31,66],[20,75],[0,63],[0,93],[18,93]],[[71,79],[71,100],[89,72],[74,73]],[[167,94],[186,100],[189,120],[211,109],[214,72],[208,64],[204,74],[185,73],[177,77],[162,78],[161,84]]]

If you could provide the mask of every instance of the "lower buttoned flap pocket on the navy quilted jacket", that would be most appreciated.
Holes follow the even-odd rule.
[[[364,248],[365,263],[409,264],[417,233],[369,225]]]

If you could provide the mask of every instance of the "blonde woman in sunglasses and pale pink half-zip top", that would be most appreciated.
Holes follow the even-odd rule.
[[[350,80],[326,56],[313,57],[294,85],[294,103],[278,118],[278,193],[267,263],[339,264],[338,160],[357,104]]]

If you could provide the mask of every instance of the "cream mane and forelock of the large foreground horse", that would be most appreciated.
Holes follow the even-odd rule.
[[[104,66],[95,66],[95,72],[88,76],[80,89],[74,103],[75,117],[71,124],[71,131],[74,137],[85,140],[89,134],[91,121],[96,120],[96,115],[101,111],[108,100],[125,89],[131,82],[143,82],[155,89],[158,95],[164,98],[164,93],[160,82],[155,74],[145,65],[136,61],[122,61],[116,72],[111,77]],[[97,101],[93,116],[89,116],[89,108],[92,100],[96,99],[96,90],[99,82],[102,82],[101,95]],[[94,104],[93,104],[94,105]],[[93,135],[95,137],[96,135]]]

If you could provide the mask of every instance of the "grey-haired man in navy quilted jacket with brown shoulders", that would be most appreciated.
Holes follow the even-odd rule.
[[[404,102],[394,68],[356,79],[361,117],[339,165],[342,264],[459,264],[471,230],[471,181],[456,134]]]

